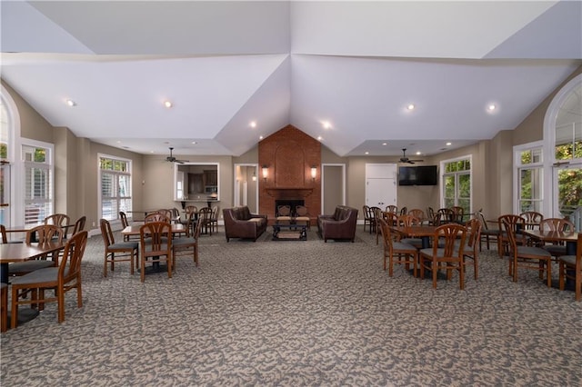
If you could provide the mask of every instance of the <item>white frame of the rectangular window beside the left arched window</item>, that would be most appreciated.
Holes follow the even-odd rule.
[[[25,152],[24,152],[25,147],[45,148],[48,151],[48,154],[46,155],[47,162],[40,164],[40,163],[25,161]],[[37,141],[37,140],[31,140],[28,138],[22,138],[19,152],[20,152],[20,157],[19,157],[20,165],[17,165],[17,167],[19,167],[18,169],[20,170],[20,175],[22,176],[21,187],[22,187],[22,196],[24,198],[23,203],[22,203],[23,224],[25,224],[26,226],[34,226],[36,224],[42,224],[44,222],[44,219],[43,219],[43,222],[41,222],[40,218],[39,218],[39,221],[37,223],[25,223],[25,207],[28,203],[49,203],[50,204],[50,211],[49,211],[50,213],[45,213],[45,216],[48,216],[48,215],[55,213],[55,144],[45,143],[45,142]],[[25,193],[26,193],[25,171],[26,171],[26,167],[29,165],[35,166],[36,168],[39,168],[39,169],[45,169],[50,174],[49,186],[48,186],[48,196],[49,196],[48,200],[45,200],[45,201],[38,200],[38,199],[31,200],[31,199],[25,197]]]

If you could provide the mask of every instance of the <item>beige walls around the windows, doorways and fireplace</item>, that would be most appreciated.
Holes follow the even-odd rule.
[[[564,82],[567,83],[582,66]],[[88,228],[98,227],[97,219],[97,154],[123,157],[133,162],[133,197],[135,209],[180,207],[173,200],[174,164],[166,163],[163,156],[134,154],[110,146],[77,138],[67,128],[54,128],[2,80],[18,107],[21,135],[25,138],[55,144],[55,209],[71,213],[76,218],[87,216]],[[563,85],[563,84],[562,84]],[[560,87],[562,86],[560,85]],[[559,87],[557,88],[559,90]],[[486,216],[497,217],[510,213],[512,205],[512,154],[515,144],[525,144],[543,138],[543,122],[547,105],[556,92],[547,98],[515,130],[499,132],[493,139],[461,149],[427,157],[425,164],[439,164],[442,160],[460,155],[473,156],[474,210],[483,208]],[[257,146],[237,157],[176,155],[195,163],[220,165],[221,208],[231,206],[234,189],[234,164],[256,164]],[[340,157],[322,146],[322,164],[346,164],[346,204],[361,209],[365,203],[366,163],[389,163],[387,157]],[[398,206],[421,208],[439,206],[439,186],[398,187]],[[317,209],[316,213],[319,213]],[[360,214],[361,218],[361,214]],[[94,225],[95,224],[95,225]]]

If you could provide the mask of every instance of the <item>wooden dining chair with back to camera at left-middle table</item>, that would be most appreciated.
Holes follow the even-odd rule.
[[[141,282],[146,281],[146,263],[166,263],[167,277],[172,278],[172,224],[144,223],[139,228],[139,240]]]

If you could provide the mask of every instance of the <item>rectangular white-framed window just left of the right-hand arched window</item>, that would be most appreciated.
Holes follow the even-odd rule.
[[[517,167],[517,213],[543,213],[544,158],[542,144],[514,148]]]

